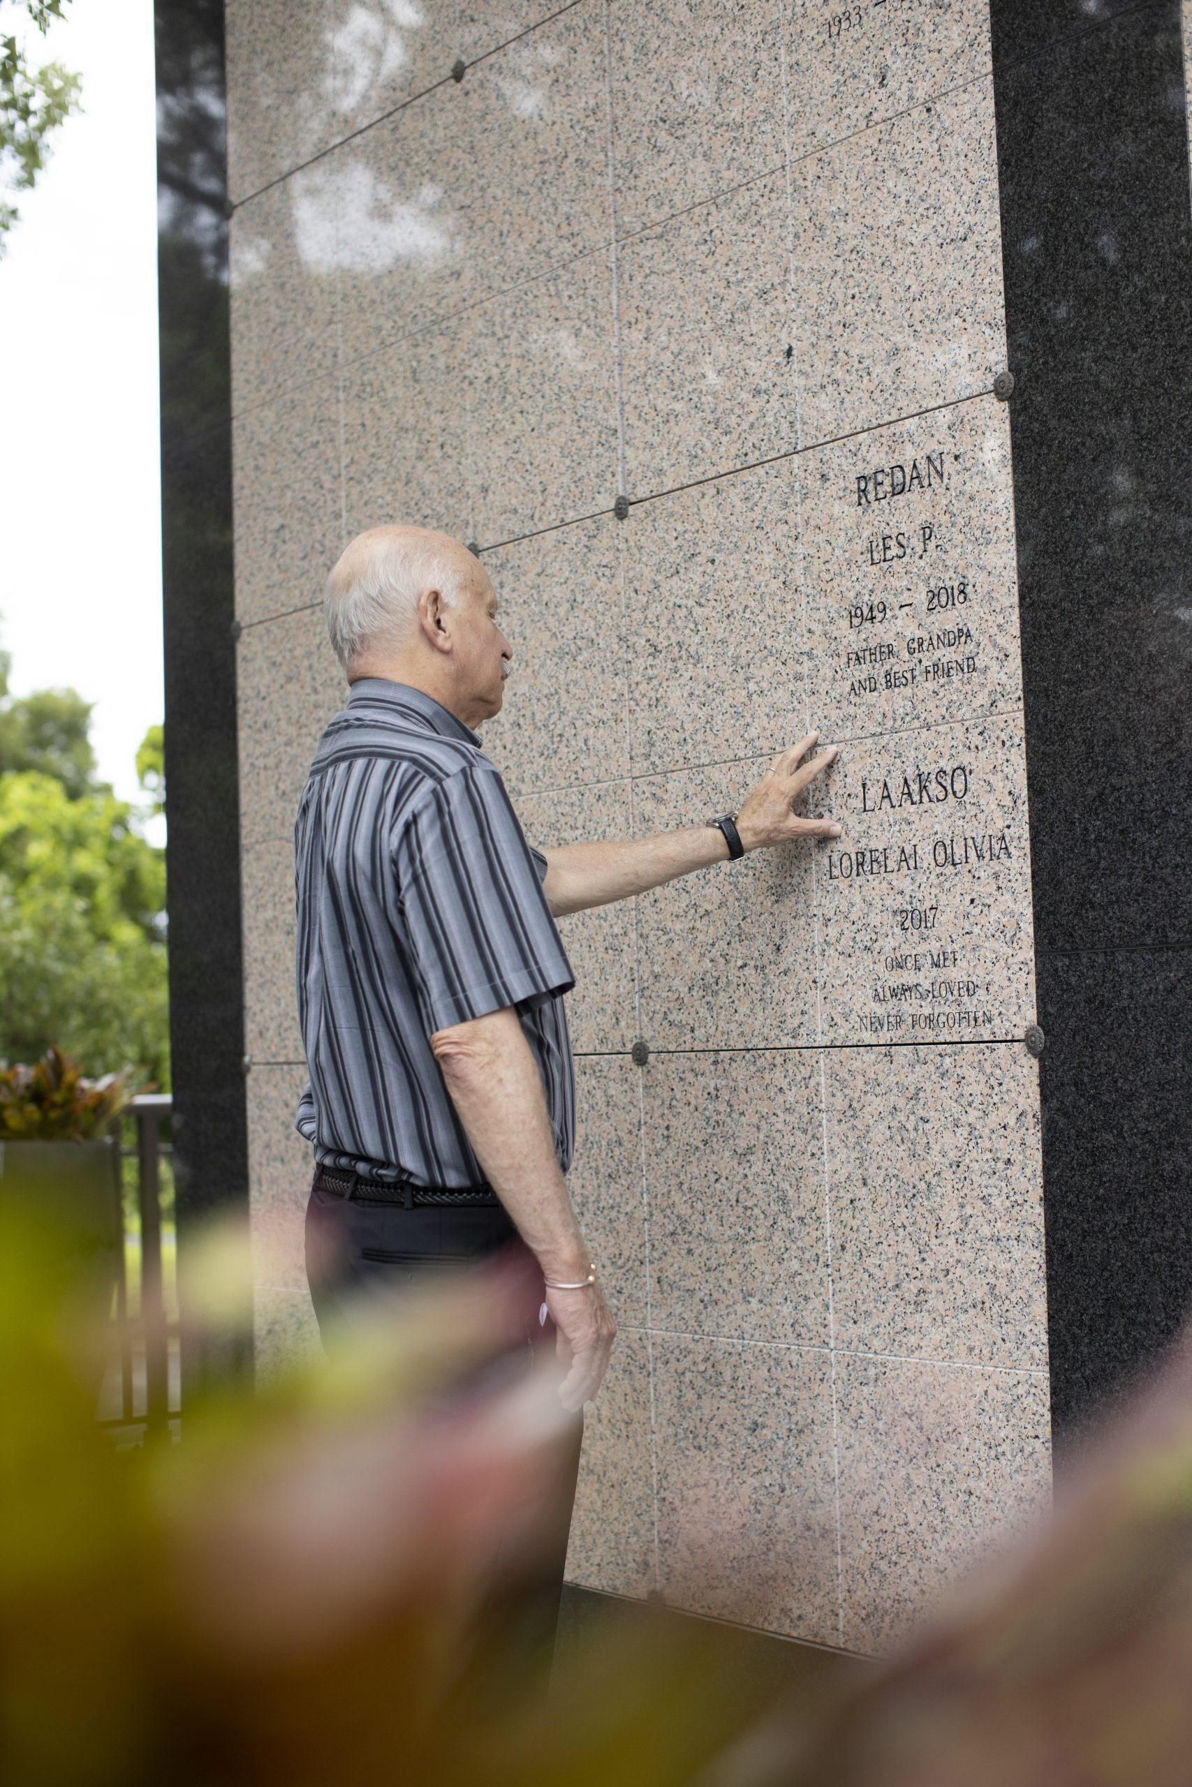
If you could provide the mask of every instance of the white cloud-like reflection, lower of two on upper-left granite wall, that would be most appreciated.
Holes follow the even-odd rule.
[[[456,220],[441,186],[424,180],[404,198],[356,161],[297,173],[293,232],[302,264],[316,273],[388,273],[395,266],[441,266],[456,252]],[[436,214],[438,213],[438,214]]]

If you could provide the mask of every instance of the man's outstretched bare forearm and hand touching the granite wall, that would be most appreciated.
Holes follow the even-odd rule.
[[[736,815],[736,829],[747,851],[776,843],[793,843],[797,838],[838,838],[840,826],[827,818],[801,818],[792,802],[827,768],[836,747],[810,758],[818,733],[801,738],[790,751],[781,751],[758,786],[749,793]],[[568,911],[586,911],[590,906],[608,906],[631,894],[677,881],[695,868],[709,868],[726,861],[729,847],[713,826],[688,826],[683,831],[663,831],[654,838],[629,838],[611,843],[567,843],[545,851],[547,879],[543,894],[558,917]]]

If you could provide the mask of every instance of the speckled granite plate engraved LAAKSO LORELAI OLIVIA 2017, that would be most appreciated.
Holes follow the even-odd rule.
[[[1020,718],[865,740],[822,797],[824,1042],[1020,1036],[1035,1015]]]

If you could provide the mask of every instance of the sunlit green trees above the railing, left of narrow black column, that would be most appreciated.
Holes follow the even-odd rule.
[[[168,1085],[164,852],[95,781],[89,706],[14,699],[0,659],[0,1060],[61,1047],[91,1076]],[[161,810],[161,727],[138,752]]]

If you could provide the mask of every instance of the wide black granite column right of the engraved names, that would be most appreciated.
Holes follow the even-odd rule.
[[[1058,1437],[1192,1306],[1178,0],[992,0]]]

